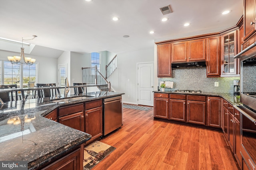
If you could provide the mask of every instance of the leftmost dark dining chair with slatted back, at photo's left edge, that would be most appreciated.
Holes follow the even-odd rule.
[[[1,89],[4,88],[17,88],[17,84],[5,84],[5,85],[0,85]],[[15,94],[15,96],[14,96]],[[10,102],[10,101],[15,101],[18,100],[18,92],[1,92],[0,93],[0,98],[3,100],[3,102]],[[15,100],[14,100],[15,98]]]

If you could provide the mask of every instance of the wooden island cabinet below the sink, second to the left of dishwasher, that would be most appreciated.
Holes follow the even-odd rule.
[[[59,108],[59,123],[84,132],[84,104]]]

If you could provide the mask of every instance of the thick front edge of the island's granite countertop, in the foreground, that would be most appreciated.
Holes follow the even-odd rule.
[[[63,146],[59,148],[58,150],[55,150],[54,152],[48,153],[44,156],[47,158],[42,161],[42,158],[38,158],[32,162],[28,162],[28,170],[36,170],[40,167],[45,167],[49,163],[53,163],[54,161],[61,158],[63,155],[66,155],[70,153],[70,151],[73,151],[75,149],[78,149],[82,143],[85,143],[86,141],[90,140],[92,138],[92,135],[86,134],[84,137],[81,137],[77,139],[76,141],[73,141],[72,143]],[[67,147],[69,146],[69,147]]]

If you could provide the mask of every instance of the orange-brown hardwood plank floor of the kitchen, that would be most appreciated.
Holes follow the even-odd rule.
[[[93,170],[239,170],[222,131],[154,120],[123,108],[123,126],[100,140],[116,147]]]

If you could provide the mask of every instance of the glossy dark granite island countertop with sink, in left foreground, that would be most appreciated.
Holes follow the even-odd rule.
[[[5,105],[0,106],[0,160],[28,161],[28,169],[33,170],[74,150],[88,141],[91,135],[43,116],[60,106],[121,96],[122,94],[124,93],[93,92],[84,94],[93,96],[91,98],[68,103],[51,101],[55,98],[6,102]],[[68,98],[73,97],[76,96],[68,96]],[[10,117],[20,117],[23,120],[26,115],[34,117],[34,119],[24,122],[24,131],[21,131],[22,123],[18,125],[7,123]]]

